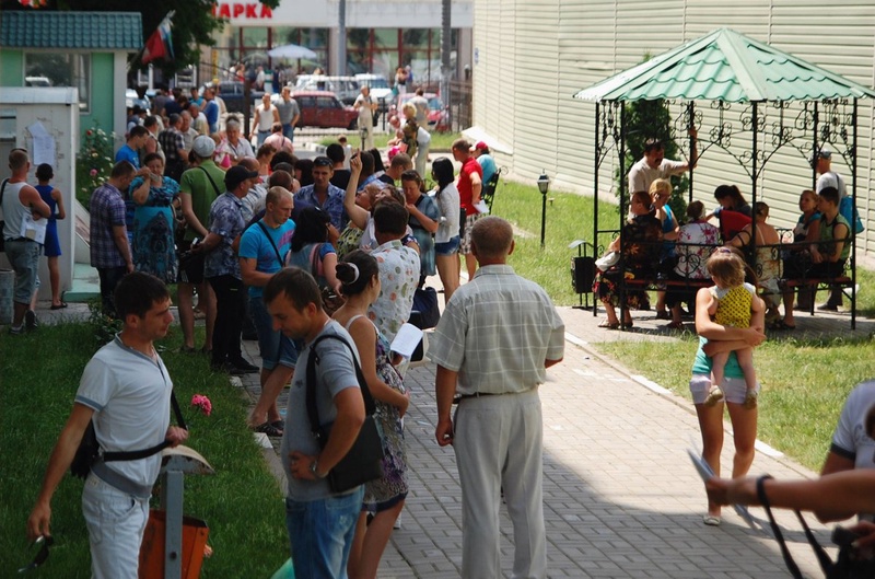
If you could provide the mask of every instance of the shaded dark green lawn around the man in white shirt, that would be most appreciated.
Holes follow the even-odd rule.
[[[214,555],[202,577],[270,577],[289,557],[281,491],[246,428],[245,404],[228,378],[209,371],[205,356],[172,354],[182,333],[162,340],[162,357],[190,429],[188,445],[215,470],[214,476],[186,479],[185,512],[210,526]],[[0,335],[0,569],[27,563],[25,522],[42,484],[49,453],[72,407],[82,369],[100,344],[90,324],[44,326],[35,335]],[[189,404],[206,394],[212,415]],[[55,546],[33,577],[91,576],[82,480],[65,476],[52,500]],[[156,503],[155,503],[156,505]],[[30,554],[33,556],[33,554]],[[3,575],[5,576],[5,575]]]

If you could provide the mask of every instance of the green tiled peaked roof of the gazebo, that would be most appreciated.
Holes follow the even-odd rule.
[[[820,101],[875,91],[728,28],[574,94],[584,101]]]

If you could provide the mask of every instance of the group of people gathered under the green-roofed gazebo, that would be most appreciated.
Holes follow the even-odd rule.
[[[695,151],[695,130],[690,136]],[[800,197],[802,215],[792,235],[782,235],[768,221],[768,204],[758,201],[751,207],[736,185],[715,188],[718,206],[712,211],[705,212],[701,201],[693,201],[687,207],[686,220],[680,220],[668,205],[673,194],[669,178],[690,170],[696,160],[691,157],[689,163],[666,160],[662,142],[650,139],[643,158],[632,165],[628,222],[597,263],[600,267],[593,282],[593,292],[607,312],[602,327],[631,327],[630,310],[651,308],[645,291],[626,289],[621,282],[640,279],[657,288],[656,319],[670,320],[667,328],[684,329],[682,304],[692,311],[697,287],[711,279],[705,262],[716,247],[725,245],[737,250],[750,267],[750,279],[767,309],[767,326],[794,329],[796,292],[801,302],[796,310],[813,308],[816,286],[843,277],[851,253],[853,204],[843,193],[843,180],[830,169],[831,152],[821,149],[813,159],[812,166],[820,177],[816,189],[806,189]],[[818,309],[837,311],[841,305],[842,290],[836,283]],[[623,312],[622,320],[617,308]]]

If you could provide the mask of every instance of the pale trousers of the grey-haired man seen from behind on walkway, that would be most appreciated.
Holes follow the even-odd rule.
[[[465,398],[453,448],[462,485],[462,577],[501,575],[501,489],[513,523],[514,579],[547,577],[544,525],[544,426],[537,389]]]

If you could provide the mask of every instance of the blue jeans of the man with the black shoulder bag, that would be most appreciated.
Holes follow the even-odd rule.
[[[364,486],[322,500],[285,499],[285,526],[298,579],[346,579],[363,498]]]

